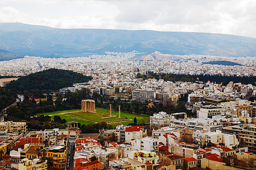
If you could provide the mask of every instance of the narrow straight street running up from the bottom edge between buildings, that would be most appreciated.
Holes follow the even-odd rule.
[[[68,138],[67,148],[67,170],[72,170],[74,167],[74,155],[75,155],[76,138]]]

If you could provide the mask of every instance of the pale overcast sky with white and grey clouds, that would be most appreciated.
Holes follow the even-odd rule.
[[[0,0],[0,23],[256,37],[256,0]]]

